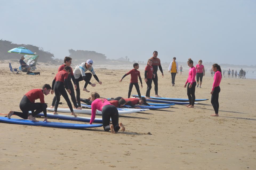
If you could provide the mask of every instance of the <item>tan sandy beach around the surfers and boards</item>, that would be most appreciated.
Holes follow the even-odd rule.
[[[8,63],[0,64],[1,113],[19,111],[19,102],[27,91],[51,84],[58,66],[40,67],[44,70],[41,75],[19,75],[9,73]],[[142,77],[144,67],[139,69]],[[87,89],[106,98],[127,97],[130,75],[121,83],[119,80],[129,70],[101,68],[105,66],[95,71],[103,84]],[[187,98],[183,85],[188,72],[186,66],[183,69],[174,87],[170,73],[165,70],[161,78],[158,71],[159,95]],[[92,82],[96,80],[92,78]],[[212,83],[208,72],[202,88],[196,88],[196,98],[210,99]],[[105,132],[102,127],[77,130],[0,123],[0,169],[256,169],[255,83],[255,79],[223,78],[219,117],[210,116],[214,113],[210,100],[195,108],[175,105],[119,116],[126,131],[117,134]],[[145,92],[143,82],[141,94]],[[135,87],[132,94],[137,94]],[[81,97],[89,95],[81,91]],[[45,96],[48,105],[52,99],[51,94]],[[62,97],[61,102],[59,107],[67,107]]]

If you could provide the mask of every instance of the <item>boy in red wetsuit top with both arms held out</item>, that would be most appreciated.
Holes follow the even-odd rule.
[[[138,63],[134,63],[133,64],[133,68],[132,70],[130,70],[129,72],[127,72],[125,75],[123,75],[122,79],[119,82],[122,82],[123,78],[125,78],[125,76],[131,74],[131,80],[130,80],[130,84],[129,84],[129,92],[128,92],[128,98],[130,98],[131,96],[131,90],[133,89],[133,85],[135,86],[138,96],[139,98],[141,98],[141,92],[139,91],[139,83],[138,83],[138,77],[139,77],[139,81],[141,82],[141,88],[142,86],[142,80],[141,80],[141,75],[139,73],[139,71],[137,69],[139,69],[139,64]]]

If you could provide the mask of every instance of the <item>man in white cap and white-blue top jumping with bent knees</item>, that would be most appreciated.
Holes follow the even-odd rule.
[[[91,74],[93,74],[95,80],[97,80],[97,82],[99,84],[102,84],[101,81],[99,81],[97,75],[95,74],[94,70],[93,70],[93,60],[89,59],[87,60],[86,62],[83,62],[83,63],[80,63],[78,64],[73,73],[74,73],[74,76],[75,76],[75,82],[77,84],[77,89],[75,90],[76,93],[77,93],[77,103],[78,103],[78,107],[81,107],[81,101],[80,101],[80,88],[79,88],[79,82],[82,81],[82,80],[85,80],[85,86],[83,88],[83,91],[86,91],[86,92],[90,92],[86,89],[87,85],[90,84],[92,87],[95,87],[96,84],[94,83],[91,83],[90,80],[91,80]],[[85,73],[86,71],[90,71],[91,73]]]

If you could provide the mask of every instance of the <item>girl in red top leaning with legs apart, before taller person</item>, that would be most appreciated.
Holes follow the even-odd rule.
[[[69,94],[71,93],[68,83],[67,83],[67,77],[70,74],[71,68],[69,66],[65,66],[63,70],[59,71],[55,78],[53,79],[53,84],[52,87],[54,90],[51,90],[51,94],[53,94],[55,92],[55,96],[56,96],[56,101],[54,104],[54,115],[57,115],[57,109],[58,109],[58,105],[59,105],[59,101],[60,101],[60,97],[61,95],[63,96],[63,98],[66,100],[67,105],[69,106],[69,109],[71,111],[71,115],[74,115],[75,117],[77,117],[77,115],[75,115],[73,108],[72,108],[72,104],[69,100],[69,96],[67,95],[67,92],[65,90],[65,88],[67,89],[67,91],[69,92]]]

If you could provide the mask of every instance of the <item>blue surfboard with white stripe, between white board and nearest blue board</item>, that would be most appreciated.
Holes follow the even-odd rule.
[[[43,113],[39,113],[37,114],[37,116],[44,116]],[[52,113],[47,113],[47,118],[50,119],[62,119],[62,120],[73,120],[73,121],[79,121],[79,122],[90,122],[91,118],[87,118],[87,117],[80,117],[80,116],[73,116],[73,115],[54,115]],[[101,118],[95,118],[95,120],[93,121],[94,123],[102,123],[102,119]]]

